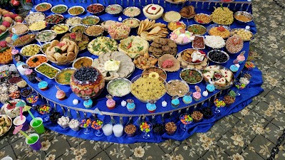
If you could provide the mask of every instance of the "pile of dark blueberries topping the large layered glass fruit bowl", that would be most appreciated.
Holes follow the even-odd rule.
[[[83,67],[76,70],[74,73],[74,78],[79,81],[93,81],[96,80],[98,76],[97,70],[90,67]]]

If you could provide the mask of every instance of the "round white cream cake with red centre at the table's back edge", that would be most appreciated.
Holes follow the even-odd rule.
[[[145,17],[156,20],[160,18],[163,14],[164,9],[162,6],[157,5],[157,4],[148,4],[142,9],[143,14]]]

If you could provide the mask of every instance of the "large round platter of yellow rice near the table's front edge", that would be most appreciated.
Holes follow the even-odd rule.
[[[167,82],[155,73],[137,75],[130,82],[130,92],[145,103],[160,100],[167,91]]]

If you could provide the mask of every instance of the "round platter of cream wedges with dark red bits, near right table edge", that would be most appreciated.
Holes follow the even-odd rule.
[[[206,82],[212,82],[217,90],[227,90],[234,84],[234,74],[222,65],[209,65],[203,70]]]

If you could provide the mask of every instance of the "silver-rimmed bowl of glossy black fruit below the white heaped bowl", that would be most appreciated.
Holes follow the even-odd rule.
[[[223,50],[209,50],[207,58],[214,63],[226,63],[229,60],[229,55]]]

